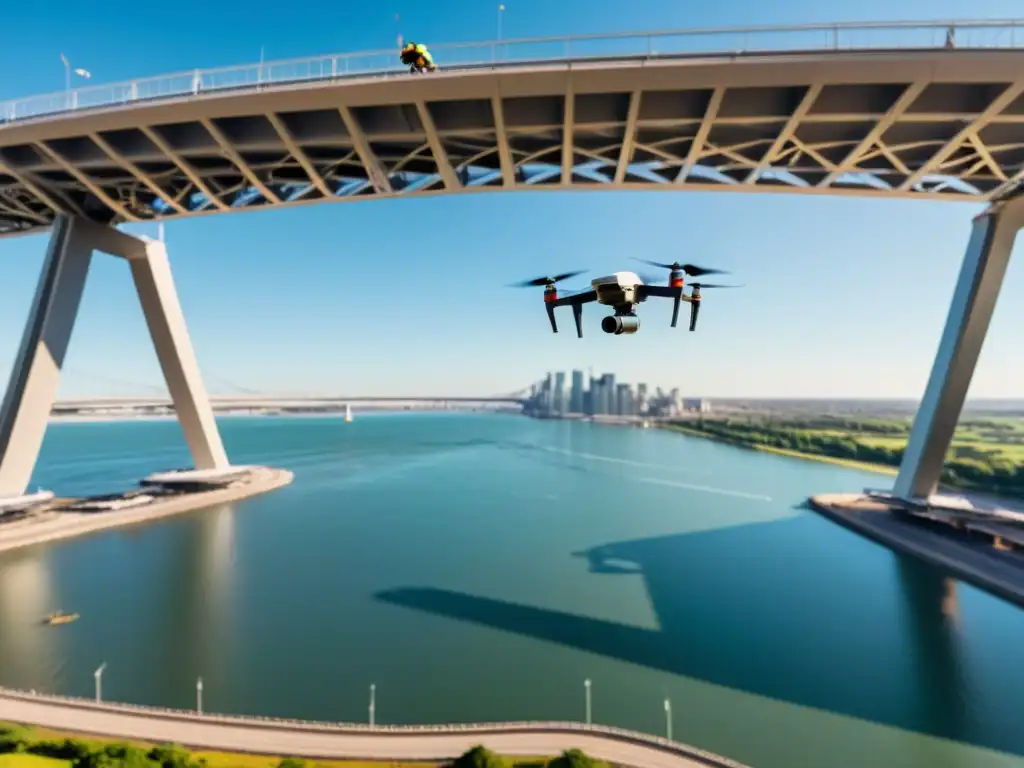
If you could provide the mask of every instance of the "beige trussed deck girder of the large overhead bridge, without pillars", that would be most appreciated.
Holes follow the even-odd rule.
[[[993,201],[1024,181],[1016,52],[649,59],[326,77],[15,121],[0,126],[0,236],[58,213],[152,221],[510,188]]]

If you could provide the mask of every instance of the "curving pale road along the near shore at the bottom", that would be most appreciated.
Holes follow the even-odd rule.
[[[557,755],[577,748],[593,757],[642,768],[744,768],[684,744],[573,723],[455,726],[333,725],[200,716],[180,710],[97,705],[85,699],[0,692],[0,721],[65,731],[175,742],[190,749],[319,759],[446,760],[482,743],[516,757]]]

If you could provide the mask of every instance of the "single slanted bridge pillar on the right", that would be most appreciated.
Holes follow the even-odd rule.
[[[893,486],[901,499],[928,499],[938,489],[1014,240],[1022,226],[1024,198],[996,203],[974,219],[946,327]]]

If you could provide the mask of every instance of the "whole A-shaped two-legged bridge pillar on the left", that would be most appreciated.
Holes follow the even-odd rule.
[[[167,249],[81,218],[58,216],[22,345],[0,406],[0,498],[25,493],[56,398],[93,251],[129,262],[160,367],[197,469],[229,466],[203,387]]]

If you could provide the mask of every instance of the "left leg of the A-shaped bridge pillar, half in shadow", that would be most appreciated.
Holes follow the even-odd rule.
[[[92,239],[80,221],[58,216],[0,406],[0,499],[29,486],[91,258]]]

